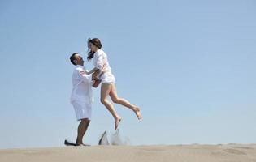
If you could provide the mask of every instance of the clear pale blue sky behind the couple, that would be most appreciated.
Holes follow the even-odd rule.
[[[134,145],[256,143],[256,2],[0,2],[0,148],[76,139],[69,56],[102,40],[119,96],[119,129]],[[85,62],[91,69],[92,62]],[[94,90],[85,143],[113,132]]]

